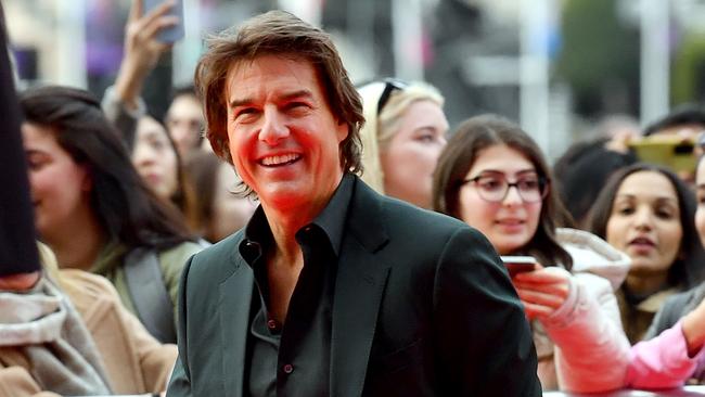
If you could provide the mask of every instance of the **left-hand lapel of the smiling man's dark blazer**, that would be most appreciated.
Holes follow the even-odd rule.
[[[216,348],[221,349],[226,396],[242,397],[254,278],[240,256],[234,260],[238,269],[220,284],[221,334]]]

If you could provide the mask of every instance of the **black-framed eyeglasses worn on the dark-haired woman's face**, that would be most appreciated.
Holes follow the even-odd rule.
[[[520,197],[525,203],[538,203],[549,193],[550,180],[546,177],[524,177],[510,183],[504,177],[493,175],[478,175],[475,178],[465,179],[461,185],[473,183],[479,197],[490,202],[500,203],[504,201],[509,190],[516,188]]]

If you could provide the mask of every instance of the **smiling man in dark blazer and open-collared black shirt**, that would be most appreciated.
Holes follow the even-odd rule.
[[[260,206],[191,258],[178,396],[538,396],[497,254],[359,178],[362,105],[330,37],[273,11],[211,39],[207,135]]]

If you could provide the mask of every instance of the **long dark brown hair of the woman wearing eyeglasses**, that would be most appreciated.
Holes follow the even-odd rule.
[[[549,168],[536,142],[516,124],[497,115],[482,115],[463,121],[438,158],[433,181],[434,209],[460,219],[459,192],[463,179],[483,150],[504,144],[524,154],[539,177],[551,181]],[[555,229],[572,225],[571,216],[561,204],[557,193],[549,184],[543,198],[539,227],[534,238],[520,251],[533,255],[546,265],[562,264],[573,267],[573,258],[556,241]]]

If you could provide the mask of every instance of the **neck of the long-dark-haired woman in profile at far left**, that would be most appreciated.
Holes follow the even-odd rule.
[[[56,255],[60,268],[90,270],[105,245],[104,230],[92,215],[74,217],[61,232],[42,238]]]

